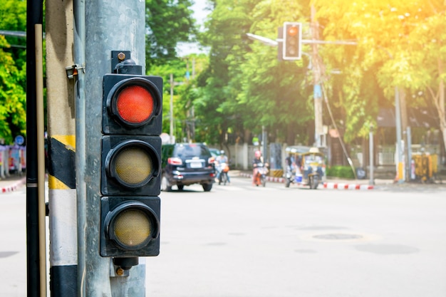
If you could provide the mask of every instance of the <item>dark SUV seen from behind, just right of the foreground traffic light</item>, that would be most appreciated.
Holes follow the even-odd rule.
[[[215,178],[214,157],[204,143],[162,145],[161,190],[179,190],[190,184],[201,184],[204,192],[212,189]]]

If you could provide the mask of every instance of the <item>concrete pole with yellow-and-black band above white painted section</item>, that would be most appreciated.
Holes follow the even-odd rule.
[[[46,86],[48,127],[48,207],[50,291],[53,297],[76,297],[77,228],[73,1],[46,1]]]

